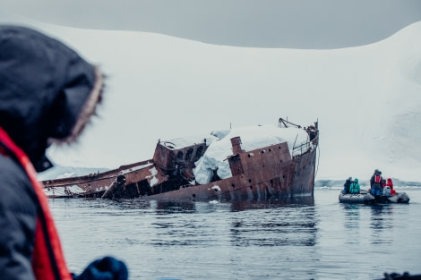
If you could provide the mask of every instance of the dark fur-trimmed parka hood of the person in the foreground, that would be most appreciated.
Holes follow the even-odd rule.
[[[0,126],[46,169],[49,142],[75,140],[102,92],[102,75],[38,31],[0,25]]]

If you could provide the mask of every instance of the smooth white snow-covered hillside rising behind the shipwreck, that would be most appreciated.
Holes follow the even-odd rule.
[[[225,47],[129,31],[40,23],[107,73],[101,116],[60,165],[116,168],[159,139],[279,117],[319,121],[317,178],[421,182],[421,21],[375,44],[334,50]]]

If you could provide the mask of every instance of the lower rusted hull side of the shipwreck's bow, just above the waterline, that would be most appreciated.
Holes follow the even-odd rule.
[[[148,199],[159,200],[266,200],[313,196],[315,150],[285,164],[260,166],[252,174],[239,174],[203,185],[163,192]],[[271,172],[264,169],[272,168]],[[261,170],[259,170],[261,169]],[[146,199],[146,198],[144,198]]]

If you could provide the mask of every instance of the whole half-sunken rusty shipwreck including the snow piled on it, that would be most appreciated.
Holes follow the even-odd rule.
[[[253,126],[157,143],[152,159],[46,180],[50,198],[270,199],[313,195],[318,123]]]

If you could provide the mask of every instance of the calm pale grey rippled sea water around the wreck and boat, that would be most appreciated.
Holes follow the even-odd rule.
[[[51,199],[73,272],[112,255],[130,279],[380,279],[421,274],[421,188],[348,205],[339,189],[266,203]]]

